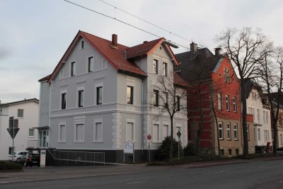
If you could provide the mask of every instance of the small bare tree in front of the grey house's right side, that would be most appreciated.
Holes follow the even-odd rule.
[[[168,113],[171,120],[170,160],[173,159],[173,120],[176,113],[187,113],[187,83],[173,72],[168,76],[159,76],[154,85],[153,101],[157,98],[160,105],[158,116]],[[158,101],[156,101],[158,103]],[[156,105],[153,103],[152,105]]]

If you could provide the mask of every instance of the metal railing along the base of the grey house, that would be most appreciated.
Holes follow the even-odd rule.
[[[103,164],[105,166],[104,152],[48,150],[54,159],[59,161],[74,161],[83,163]]]

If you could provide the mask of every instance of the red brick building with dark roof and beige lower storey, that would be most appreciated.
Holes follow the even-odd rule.
[[[220,51],[216,48],[213,55],[192,43],[190,52],[176,55],[181,64],[175,71],[192,86],[187,91],[188,141],[199,139],[202,152],[218,154],[219,137],[221,154],[235,156],[243,154],[240,85]],[[247,116],[249,151],[254,153],[253,116]]]

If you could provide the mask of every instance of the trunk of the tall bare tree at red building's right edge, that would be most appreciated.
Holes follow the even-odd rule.
[[[247,127],[247,100],[245,91],[245,81],[241,79],[241,101],[243,103],[243,114],[242,114],[242,128],[243,128],[243,156],[248,156],[248,127]],[[249,133],[250,134],[250,133]]]

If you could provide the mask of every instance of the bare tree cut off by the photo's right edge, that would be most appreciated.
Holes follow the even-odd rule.
[[[272,52],[272,53],[271,53]],[[262,88],[267,93],[270,102],[270,118],[273,127],[273,153],[277,153],[278,143],[278,117],[282,101],[282,80],[283,80],[283,47],[268,49],[267,56],[260,65],[261,71],[258,72]],[[274,99],[275,98],[275,99]],[[273,103],[275,101],[275,103]]]

